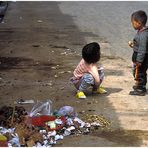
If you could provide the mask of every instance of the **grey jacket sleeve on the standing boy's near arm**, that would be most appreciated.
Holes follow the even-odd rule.
[[[138,54],[137,54],[137,59],[136,59],[136,61],[139,63],[142,63],[145,58],[147,40],[148,40],[148,37],[146,33],[142,33],[139,38],[139,48],[138,48]]]

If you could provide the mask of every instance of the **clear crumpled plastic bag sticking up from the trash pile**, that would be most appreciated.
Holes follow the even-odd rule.
[[[31,112],[29,113],[30,117],[38,115],[52,115],[52,101],[37,102]]]

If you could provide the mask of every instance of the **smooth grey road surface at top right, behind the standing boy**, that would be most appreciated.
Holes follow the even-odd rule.
[[[81,31],[91,32],[108,42],[111,47],[105,50],[106,53],[125,59],[130,59],[132,53],[127,42],[136,33],[131,26],[130,16],[137,10],[148,13],[147,1],[60,2],[59,7],[62,13],[73,16]]]

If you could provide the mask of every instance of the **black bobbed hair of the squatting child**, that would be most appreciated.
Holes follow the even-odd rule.
[[[96,63],[100,60],[100,45],[96,42],[85,45],[82,49],[82,58],[88,63]]]

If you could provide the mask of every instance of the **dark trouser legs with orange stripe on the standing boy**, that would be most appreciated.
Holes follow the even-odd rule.
[[[135,65],[133,69],[134,78],[136,80],[136,87],[142,91],[146,91],[147,69],[148,67],[146,64],[142,64],[141,66]]]

